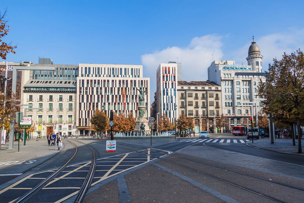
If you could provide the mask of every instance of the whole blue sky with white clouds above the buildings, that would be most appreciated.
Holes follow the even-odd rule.
[[[159,63],[182,60],[183,80],[206,80],[214,60],[247,62],[252,35],[263,68],[304,48],[303,1],[5,1],[17,44],[8,61],[143,65],[155,91]],[[43,53],[43,55],[42,55]],[[178,58],[177,58],[178,57]],[[187,70],[187,71],[185,71]],[[195,74],[194,74],[195,73]],[[151,101],[152,102],[152,101]]]

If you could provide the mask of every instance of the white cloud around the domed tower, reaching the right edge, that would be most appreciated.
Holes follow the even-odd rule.
[[[268,64],[273,63],[273,58],[280,60],[284,52],[290,54],[297,49],[304,49],[304,29],[287,29],[282,33],[273,33],[257,38],[255,41],[260,47],[261,55],[263,55],[263,70],[268,69]],[[234,52],[234,59],[236,63],[246,61],[248,56],[248,48],[250,43]],[[247,62],[247,61],[246,61]]]

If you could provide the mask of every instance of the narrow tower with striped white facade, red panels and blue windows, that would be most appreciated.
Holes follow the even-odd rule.
[[[181,80],[181,63],[161,63],[156,71],[156,114],[166,116],[173,123],[178,118],[177,81]],[[158,122],[158,121],[157,121]]]

